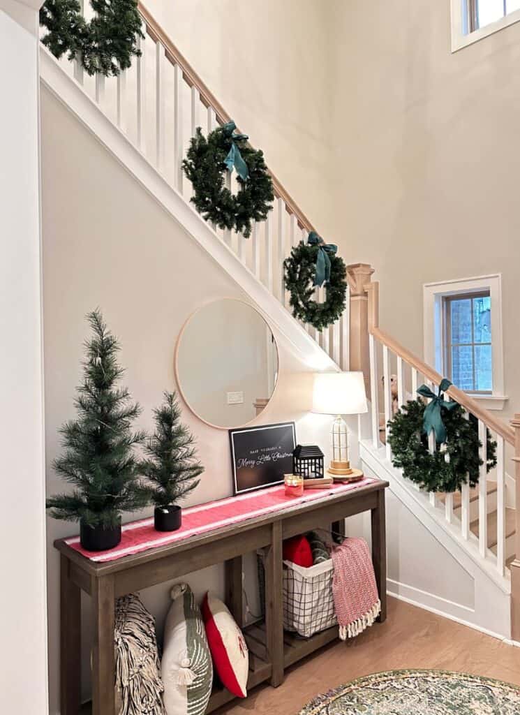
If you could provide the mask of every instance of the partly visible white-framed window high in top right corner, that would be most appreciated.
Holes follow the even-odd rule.
[[[520,20],[520,0],[451,0],[451,51]]]

